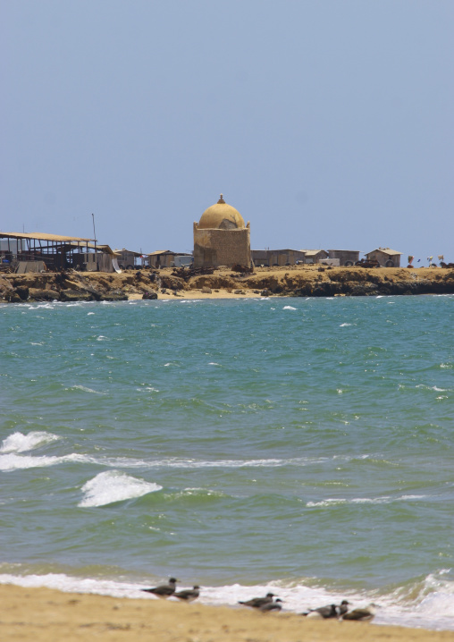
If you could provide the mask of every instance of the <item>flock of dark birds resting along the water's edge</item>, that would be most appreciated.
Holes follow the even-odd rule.
[[[193,602],[197,600],[200,595],[200,587],[196,584],[192,588],[187,588],[182,591],[176,590],[176,585],[179,580],[175,578],[169,579],[167,584],[161,584],[153,588],[141,588],[141,591],[152,593],[157,597],[178,597],[182,602]],[[256,609],[260,612],[281,611],[283,601],[276,597],[273,593],[267,593],[265,597],[253,597],[246,602],[239,602],[244,606]],[[329,620],[336,618],[337,620],[349,621],[371,621],[375,615],[374,604],[370,604],[366,608],[349,610],[349,602],[342,600],[341,604],[328,604],[327,606],[319,606],[317,609],[309,609],[301,615],[307,618],[318,618],[319,620]]]

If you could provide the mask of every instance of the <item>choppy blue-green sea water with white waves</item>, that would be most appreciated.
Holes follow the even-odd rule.
[[[454,296],[0,307],[0,581],[175,576],[454,630],[453,319]]]

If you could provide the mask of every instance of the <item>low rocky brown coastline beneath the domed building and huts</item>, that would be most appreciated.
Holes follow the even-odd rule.
[[[0,302],[116,301],[129,299],[332,297],[453,294],[454,269],[329,266],[259,267],[252,274],[219,268],[208,275],[181,270],[126,270],[0,275]]]

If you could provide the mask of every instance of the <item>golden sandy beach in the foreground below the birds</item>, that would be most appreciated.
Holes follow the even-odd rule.
[[[411,629],[367,622],[318,621],[291,612],[93,594],[46,587],[0,585],[2,639],[68,642],[446,642],[450,630]]]

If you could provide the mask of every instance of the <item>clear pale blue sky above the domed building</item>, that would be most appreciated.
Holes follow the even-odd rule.
[[[0,230],[454,261],[452,0],[1,0]]]

